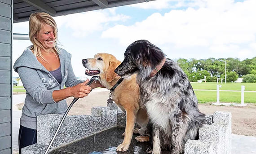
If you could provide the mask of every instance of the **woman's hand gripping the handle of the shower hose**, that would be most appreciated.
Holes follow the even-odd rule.
[[[71,96],[75,98],[84,98],[92,91],[92,88],[89,86],[86,86],[86,84],[89,82],[89,79],[84,81],[83,83],[77,84],[73,87],[70,87]]]

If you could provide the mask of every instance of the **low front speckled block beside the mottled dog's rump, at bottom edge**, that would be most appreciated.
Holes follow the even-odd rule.
[[[216,154],[209,141],[188,140],[184,150],[184,154]]]

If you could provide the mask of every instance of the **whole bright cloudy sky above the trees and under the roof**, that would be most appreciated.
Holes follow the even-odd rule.
[[[256,57],[255,6],[256,0],[155,0],[54,19],[60,47],[84,77],[82,59],[110,53],[123,61],[128,45],[141,39],[173,60]],[[14,23],[13,33],[28,34],[28,22]],[[29,45],[13,40],[13,63]]]

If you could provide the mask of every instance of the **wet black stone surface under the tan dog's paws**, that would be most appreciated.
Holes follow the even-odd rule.
[[[88,136],[79,141],[72,142],[50,152],[50,154],[145,154],[147,143],[140,143],[132,136],[131,145],[126,152],[116,152],[116,148],[122,143],[125,128],[115,127],[95,135]],[[168,153],[163,153],[168,154]]]

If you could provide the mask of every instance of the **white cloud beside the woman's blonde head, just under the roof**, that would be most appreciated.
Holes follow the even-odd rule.
[[[56,17],[58,27],[66,26],[73,31],[74,36],[86,36],[93,32],[102,31],[110,22],[124,22],[129,16],[116,14],[115,9],[104,12],[102,10],[76,13],[67,16]]]

